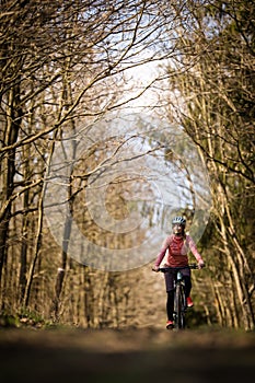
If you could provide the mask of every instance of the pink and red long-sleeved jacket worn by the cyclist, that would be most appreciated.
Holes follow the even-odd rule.
[[[197,259],[197,262],[202,260],[200,254],[197,251],[195,242],[193,241],[190,235],[186,235],[186,237],[177,236],[174,234],[169,235],[163,242],[162,248],[157,256],[155,266],[159,267],[161,262],[163,260],[166,251],[169,251],[166,257],[166,266],[178,267],[178,266],[187,266],[188,265],[188,251],[192,251],[193,255]]]

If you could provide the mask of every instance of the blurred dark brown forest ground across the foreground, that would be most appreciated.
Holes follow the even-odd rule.
[[[255,333],[0,329],[2,383],[254,381]]]

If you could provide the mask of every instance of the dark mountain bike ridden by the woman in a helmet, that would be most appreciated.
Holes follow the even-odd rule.
[[[197,264],[190,264],[185,267],[161,267],[161,272],[173,272],[174,278],[174,314],[173,322],[176,330],[184,329],[186,327],[185,315],[187,311],[187,302],[185,297],[185,282],[182,274],[182,269],[198,269]]]

